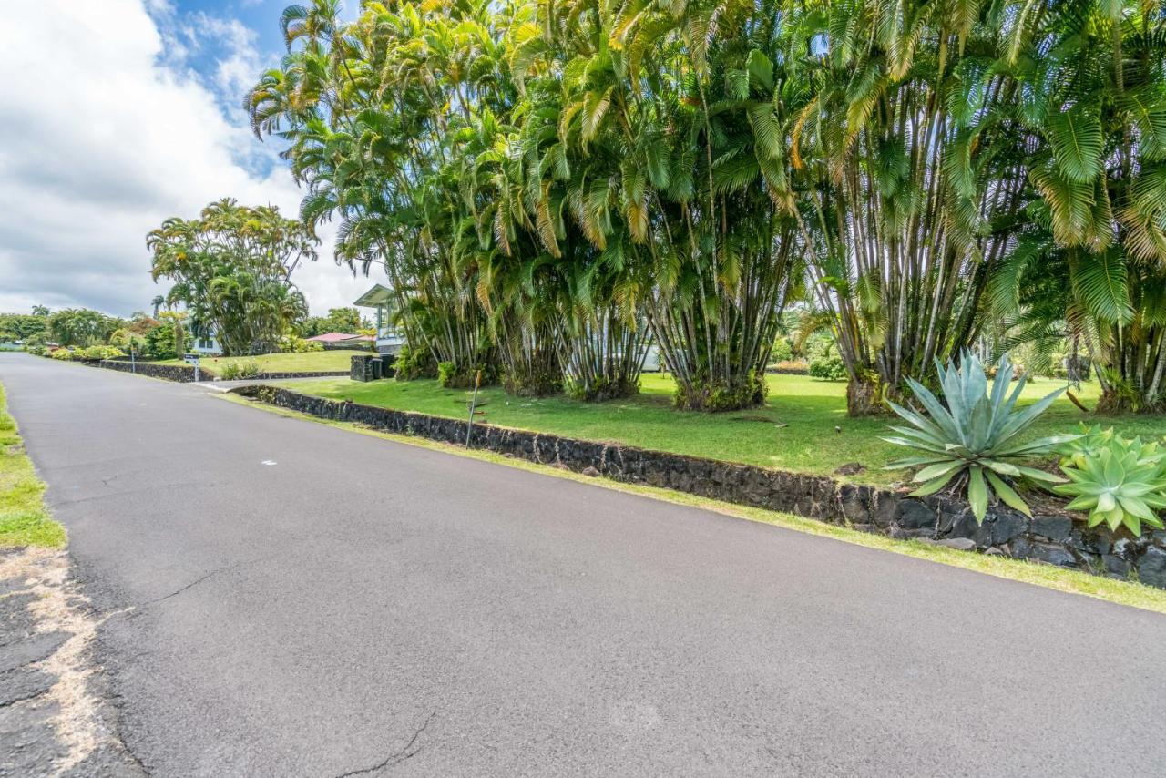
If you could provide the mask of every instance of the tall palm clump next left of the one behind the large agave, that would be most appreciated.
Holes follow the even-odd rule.
[[[514,47],[515,59],[549,62],[564,96],[547,167],[575,183],[559,208],[545,189],[542,232],[566,210],[610,266],[628,268],[619,299],[642,309],[681,407],[763,399],[796,287],[793,220],[767,181],[784,176],[765,54],[777,23],[774,8],[749,3],[546,2],[541,37],[528,28]]]

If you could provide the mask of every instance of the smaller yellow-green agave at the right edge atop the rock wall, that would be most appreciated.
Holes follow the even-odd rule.
[[[1166,507],[1166,450],[1110,435],[1088,456],[1061,465],[1069,483],[1055,486],[1058,495],[1073,497],[1070,510],[1089,511],[1089,526],[1104,521],[1110,530],[1124,525],[1135,535],[1142,523],[1163,528],[1157,511]]]

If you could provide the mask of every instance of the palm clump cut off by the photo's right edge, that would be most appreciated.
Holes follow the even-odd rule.
[[[1000,307],[1084,342],[1101,409],[1166,408],[1166,7],[1055,2],[1016,17],[1032,218]],[[1062,282],[1042,293],[1049,276]],[[1010,297],[1013,280],[1035,294]]]

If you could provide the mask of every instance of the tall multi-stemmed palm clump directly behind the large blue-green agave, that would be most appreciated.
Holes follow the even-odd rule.
[[[983,322],[1025,181],[1005,22],[965,0],[827,0],[789,21],[807,89],[791,125],[799,226],[852,414],[880,412]]]

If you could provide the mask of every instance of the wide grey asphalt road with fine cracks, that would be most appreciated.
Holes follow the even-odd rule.
[[[0,353],[157,776],[1160,776],[1166,617]]]

